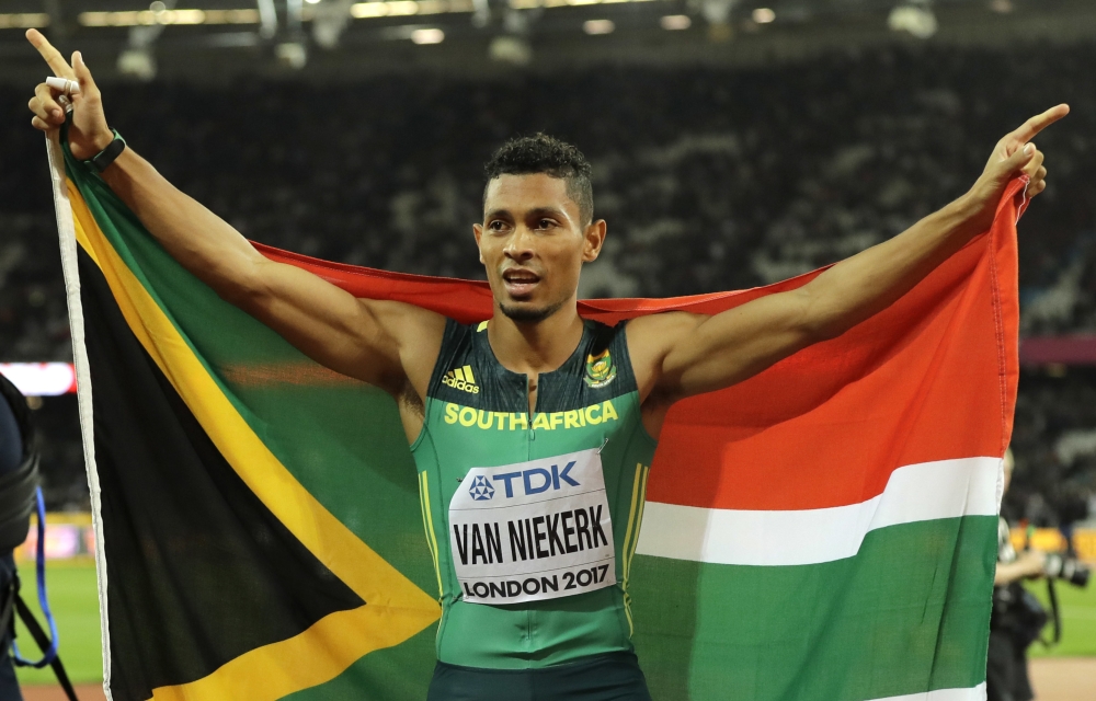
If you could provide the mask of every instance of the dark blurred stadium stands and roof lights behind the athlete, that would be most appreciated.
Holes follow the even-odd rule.
[[[482,277],[481,163],[513,135],[571,140],[609,222],[586,297],[750,287],[845,257],[960,195],[1001,135],[1069,102],[1020,227],[1004,510],[1017,538],[1036,527],[1096,559],[1091,0],[2,0],[0,363],[66,364],[26,27],[83,51],[112,126],[176,185],[256,241],[330,260]],[[44,394],[46,499],[68,514],[53,548],[87,558],[67,366],[7,371]],[[57,567],[79,619],[93,574]],[[1064,607],[1055,652],[1096,655],[1096,598]],[[79,620],[88,678],[94,611]]]

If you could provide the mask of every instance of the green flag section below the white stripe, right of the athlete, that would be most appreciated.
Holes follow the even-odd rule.
[[[992,516],[892,526],[857,558],[813,565],[639,555],[635,640],[652,693],[864,701],[975,687],[996,527]]]

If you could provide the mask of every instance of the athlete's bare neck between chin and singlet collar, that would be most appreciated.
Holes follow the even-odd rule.
[[[536,377],[563,365],[582,340],[582,318],[574,302],[535,323],[520,323],[494,309],[487,329],[494,356],[504,368]]]

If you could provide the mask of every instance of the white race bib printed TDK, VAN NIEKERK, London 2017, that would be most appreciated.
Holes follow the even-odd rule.
[[[472,468],[449,502],[464,600],[520,604],[616,584],[598,450]]]

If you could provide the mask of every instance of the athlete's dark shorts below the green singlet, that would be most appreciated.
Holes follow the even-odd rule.
[[[439,662],[426,701],[651,701],[651,694],[635,653],[608,653],[540,669]]]

